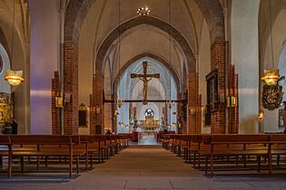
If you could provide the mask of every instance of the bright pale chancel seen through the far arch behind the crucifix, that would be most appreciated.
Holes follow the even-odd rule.
[[[147,105],[143,105],[142,101],[126,102],[126,100],[143,100],[143,82],[130,78],[131,73],[143,72],[142,62],[148,62],[148,73],[160,73],[159,79],[152,79],[148,82]],[[154,131],[156,128],[159,129],[165,121],[169,125],[177,121],[176,117],[172,115],[173,110],[177,108],[177,103],[173,103],[169,108],[166,100],[177,100],[178,91],[171,71],[161,62],[143,56],[132,62],[118,79],[119,83],[115,84],[114,90],[117,100],[123,100],[124,103],[121,107],[116,108],[119,111],[116,125],[129,123],[130,120],[138,120],[142,124],[143,130]],[[145,117],[145,111],[148,108],[153,109],[153,117]],[[131,113],[131,110],[134,112]],[[117,126],[117,132],[122,132],[122,129]]]

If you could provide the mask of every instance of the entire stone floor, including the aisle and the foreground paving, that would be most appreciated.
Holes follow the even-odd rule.
[[[150,144],[157,144],[146,138]],[[43,176],[36,173],[15,174],[11,179],[0,176],[0,190],[47,189],[286,189],[286,176],[216,175],[185,164],[160,145],[136,145],[124,149],[118,156],[94,169],[83,171],[69,179],[63,176]],[[147,144],[139,141],[138,144]]]

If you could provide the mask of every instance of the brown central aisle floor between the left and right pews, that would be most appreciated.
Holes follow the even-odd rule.
[[[96,166],[100,176],[190,176],[198,174],[190,165],[183,163],[160,145],[131,145],[118,157]],[[201,172],[200,172],[201,174]]]

